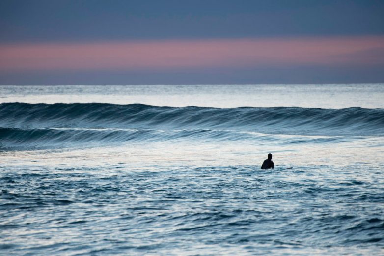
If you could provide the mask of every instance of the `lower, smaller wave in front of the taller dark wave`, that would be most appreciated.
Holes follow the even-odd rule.
[[[272,135],[228,130],[132,130],[79,128],[1,128],[0,150],[32,150],[65,147],[120,145],[127,142],[241,142],[252,146],[343,143],[359,140],[359,144],[384,146],[377,137]]]

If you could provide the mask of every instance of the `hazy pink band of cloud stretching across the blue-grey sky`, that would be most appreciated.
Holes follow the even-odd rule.
[[[0,71],[375,65],[383,53],[384,36],[19,44],[0,45]]]

